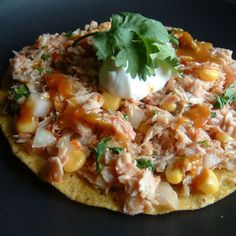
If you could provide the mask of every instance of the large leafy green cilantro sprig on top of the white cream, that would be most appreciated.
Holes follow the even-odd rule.
[[[111,28],[96,32],[93,44],[98,59],[111,58],[117,67],[127,66],[132,78],[139,75],[146,80],[159,66],[178,73],[178,59],[169,45],[171,38],[161,22],[124,12],[112,15]]]

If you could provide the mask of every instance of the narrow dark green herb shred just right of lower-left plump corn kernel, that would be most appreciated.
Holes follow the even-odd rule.
[[[97,145],[97,147],[92,148],[92,152],[96,155],[96,170],[100,174],[102,171],[101,160],[106,151],[108,142],[111,140],[111,137],[103,138]]]

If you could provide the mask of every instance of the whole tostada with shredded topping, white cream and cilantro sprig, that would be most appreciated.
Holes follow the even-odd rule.
[[[14,53],[1,128],[14,154],[70,199],[163,214],[236,189],[232,51],[120,13]]]

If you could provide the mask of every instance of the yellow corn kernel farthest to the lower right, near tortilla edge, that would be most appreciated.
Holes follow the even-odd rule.
[[[214,194],[219,189],[219,181],[214,173],[210,169],[204,169],[201,173],[202,179],[198,185],[198,189],[206,194]]]

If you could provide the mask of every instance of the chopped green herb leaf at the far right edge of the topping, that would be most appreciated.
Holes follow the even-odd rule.
[[[216,101],[214,104],[215,108],[222,109],[225,105],[230,104],[236,100],[236,91],[233,90],[234,85],[230,84],[221,96],[216,96]]]

